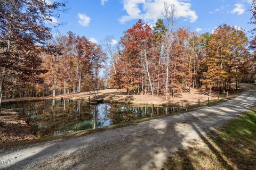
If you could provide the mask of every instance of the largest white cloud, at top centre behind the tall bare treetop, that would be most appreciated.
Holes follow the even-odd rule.
[[[155,22],[161,16],[164,2],[166,0],[123,0],[124,10],[127,12],[127,15],[123,15],[119,22],[125,23],[133,19]],[[190,22],[197,20],[198,16],[195,11],[191,10],[189,1],[169,0],[167,2],[175,5],[178,17],[187,18]]]

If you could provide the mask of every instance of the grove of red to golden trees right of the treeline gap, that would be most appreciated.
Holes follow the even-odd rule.
[[[254,55],[242,29],[222,24],[198,35],[171,30],[162,19],[151,29],[139,20],[125,31],[115,58],[111,84],[135,94],[168,94],[189,88],[230,90],[231,83],[254,80]]]

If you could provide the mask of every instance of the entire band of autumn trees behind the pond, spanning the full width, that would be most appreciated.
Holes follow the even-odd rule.
[[[202,35],[176,28],[174,5],[165,3],[153,27],[139,20],[117,45],[111,36],[101,45],[73,32],[53,37],[49,24],[62,24],[52,17],[65,12],[64,3],[6,0],[0,6],[2,98],[111,87],[167,100],[190,88],[205,88],[211,95],[255,80],[255,38],[227,24]],[[253,1],[252,24],[255,6]]]

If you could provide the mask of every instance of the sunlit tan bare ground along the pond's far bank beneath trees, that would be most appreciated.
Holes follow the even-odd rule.
[[[239,89],[241,91],[241,89]],[[8,101],[28,101],[28,100],[42,100],[42,99],[71,99],[71,100],[93,100],[93,95],[90,94],[92,92],[80,92],[74,94],[66,94],[66,95],[58,95],[55,97],[29,97],[29,98],[15,98],[9,100],[3,100],[3,102]],[[118,92],[117,89],[105,89],[99,90],[99,99],[104,99],[105,103],[124,103],[124,104],[141,104],[141,105],[177,105],[183,102],[184,105],[197,105],[198,99],[201,103],[207,103],[208,97],[210,101],[214,101],[218,99],[218,93],[212,92],[211,96],[208,96],[208,91],[205,90],[197,90],[190,89],[189,92],[182,92],[180,94],[175,94],[175,97],[169,97],[169,100],[164,100],[164,96],[154,96],[154,98],[149,95],[126,95],[126,92],[122,90]],[[236,91],[231,90],[229,96],[236,96]],[[219,95],[219,99],[226,98],[226,93],[222,93]],[[96,98],[95,98],[96,99]]]

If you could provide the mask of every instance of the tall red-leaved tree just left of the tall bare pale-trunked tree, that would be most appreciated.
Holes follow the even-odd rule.
[[[116,78],[115,83],[121,83],[123,87],[125,84],[127,92],[136,89],[139,91],[140,88],[143,92],[143,81],[145,81],[145,93],[149,91],[147,91],[149,83],[151,96],[154,97],[154,76],[152,74],[156,69],[155,32],[148,24],[139,20],[131,29],[125,31],[120,44],[122,50],[119,50],[119,54],[121,55],[115,66],[116,75],[119,78]],[[124,81],[122,82],[121,79]]]

